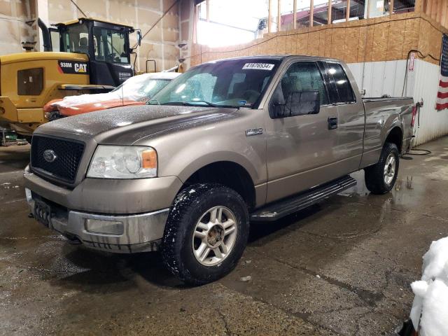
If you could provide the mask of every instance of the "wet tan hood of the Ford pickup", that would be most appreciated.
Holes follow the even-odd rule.
[[[158,132],[223,118],[235,111],[198,106],[122,106],[45,123],[36,134],[79,140],[94,138],[103,144],[133,144]]]

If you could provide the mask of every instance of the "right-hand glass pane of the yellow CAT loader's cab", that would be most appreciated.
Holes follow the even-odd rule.
[[[126,33],[100,27],[93,28],[95,59],[97,61],[130,63]]]

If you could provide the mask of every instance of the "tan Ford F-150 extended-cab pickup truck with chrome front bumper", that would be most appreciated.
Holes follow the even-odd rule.
[[[38,127],[27,201],[72,241],[120,253],[160,248],[180,279],[207,283],[235,267],[250,221],[339,193],[360,169],[372,193],[390,191],[411,146],[413,105],[363,99],[335,59],[208,62],[146,106]]]

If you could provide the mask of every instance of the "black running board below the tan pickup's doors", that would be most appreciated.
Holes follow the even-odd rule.
[[[293,214],[353,186],[356,186],[356,180],[347,175],[335,181],[325,183],[322,186],[312,188],[305,193],[294,195],[285,200],[269,204],[267,207],[257,209],[251,214],[251,220],[276,221],[281,217]]]

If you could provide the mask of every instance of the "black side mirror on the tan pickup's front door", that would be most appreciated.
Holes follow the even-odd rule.
[[[304,116],[306,114],[317,114],[321,109],[321,99],[318,91],[290,92],[286,102],[281,104],[274,99],[273,118],[288,118]]]

